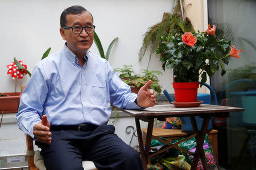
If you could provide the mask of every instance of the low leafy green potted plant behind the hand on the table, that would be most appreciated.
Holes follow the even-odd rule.
[[[156,75],[162,74],[160,71],[148,71],[147,69],[141,70],[141,74],[135,74],[132,66],[123,65],[123,68],[114,69],[115,72],[120,73],[119,78],[131,87],[131,92],[138,94],[139,89],[152,80],[150,85],[151,89],[154,89],[158,94],[162,91],[162,86],[159,85],[159,79]]]

